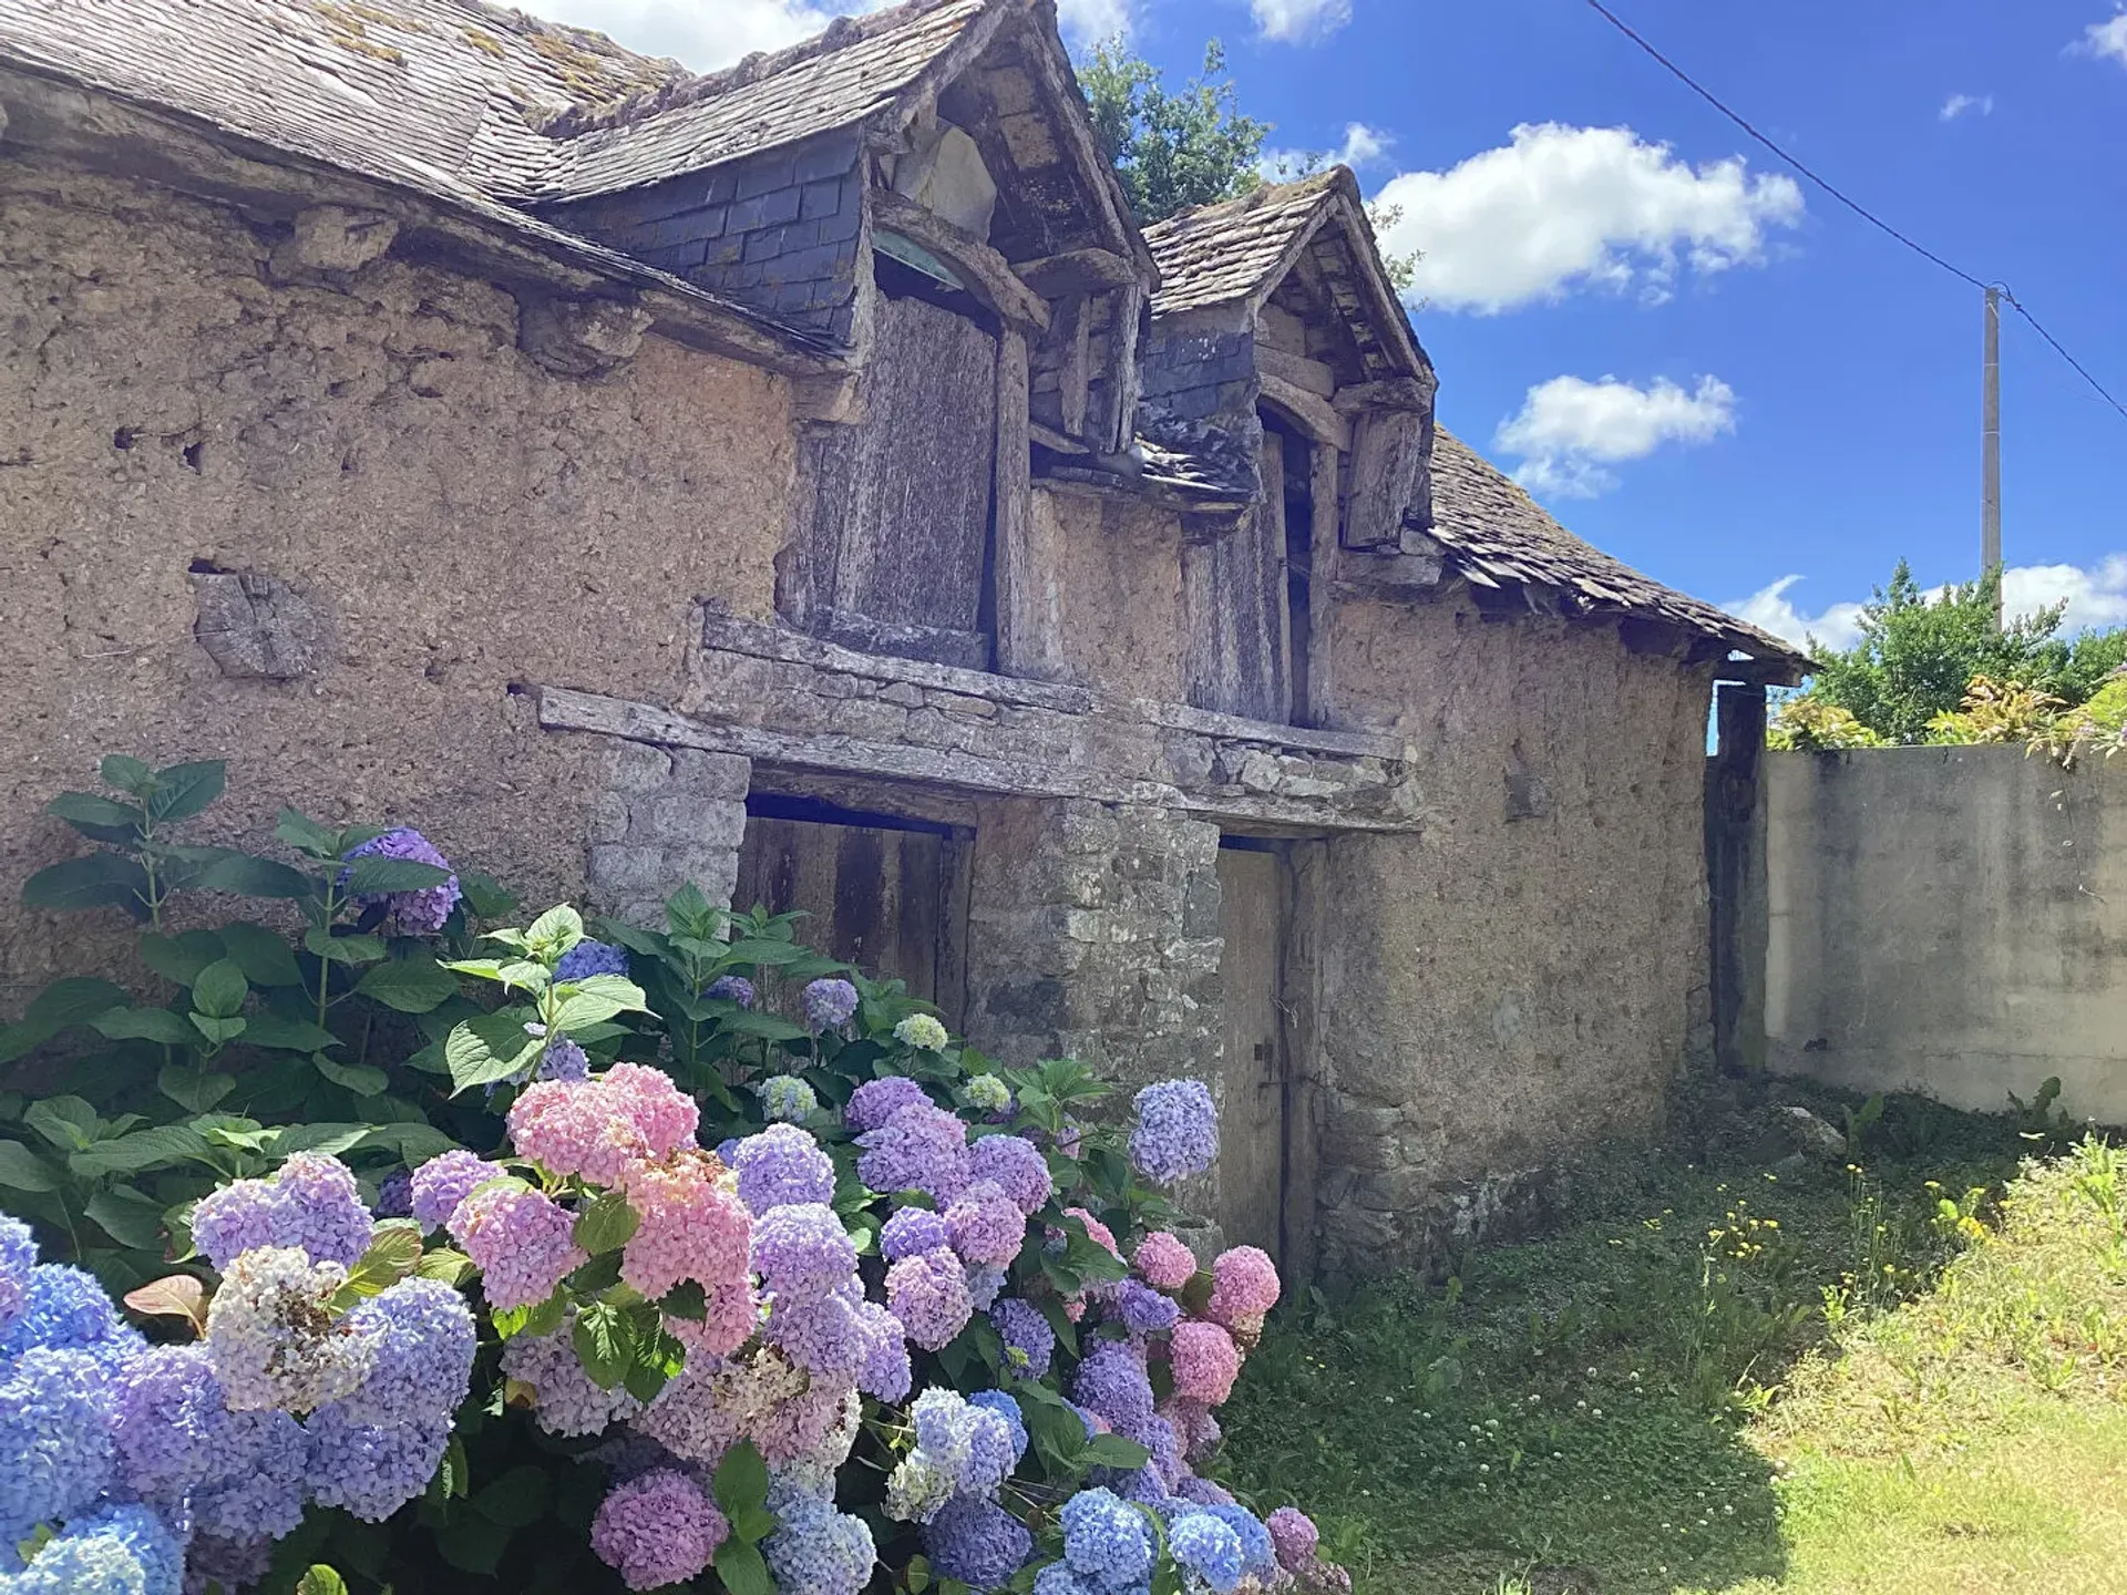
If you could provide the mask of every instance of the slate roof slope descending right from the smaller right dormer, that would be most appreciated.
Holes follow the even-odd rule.
[[[1506,472],[1444,427],[1434,430],[1434,523],[1425,527],[1463,581],[1521,583],[1563,595],[1582,612],[1668,621],[1725,642],[1753,659],[1806,666],[1793,647],[1727,610],[1663,587],[1589,547]]]

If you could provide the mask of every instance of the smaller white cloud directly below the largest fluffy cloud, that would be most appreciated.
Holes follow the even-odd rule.
[[[1523,455],[1514,481],[1548,498],[1597,498],[1617,487],[1606,466],[1646,459],[1665,442],[1702,444],[1736,430],[1736,389],[1702,376],[1695,389],[1668,379],[1634,387],[1553,376],[1529,389],[1493,442]]]

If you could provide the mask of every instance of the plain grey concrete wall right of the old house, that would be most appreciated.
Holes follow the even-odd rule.
[[[2127,759],[1768,753],[1763,793],[1774,1070],[2127,1125]]]

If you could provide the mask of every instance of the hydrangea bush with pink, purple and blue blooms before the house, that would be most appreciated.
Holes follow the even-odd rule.
[[[1200,1082],[1110,1125],[1078,1065],[998,1068],[693,889],[474,942],[417,834],[306,857],[321,940],[453,983],[404,1038],[421,1123],[87,1140],[183,1131],[130,1314],[70,1206],[0,1221],[0,1595],[1349,1586],[1212,1480],[1278,1278],[1174,1233]]]

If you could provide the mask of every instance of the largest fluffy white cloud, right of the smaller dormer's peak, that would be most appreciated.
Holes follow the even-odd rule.
[[[1631,128],[1557,121],[1514,128],[1448,172],[1404,172],[1376,200],[1402,213],[1385,249],[1425,255],[1410,293],[1487,315],[1574,287],[1663,300],[1682,262],[1755,264],[1768,232],[1804,211],[1793,179],[1753,177],[1740,155],[1691,166]]]

